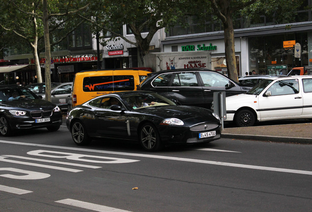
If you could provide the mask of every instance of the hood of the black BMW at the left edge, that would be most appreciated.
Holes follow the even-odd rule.
[[[32,100],[13,100],[7,102],[1,102],[0,107],[10,107],[10,108],[21,108],[21,109],[29,109],[36,110],[39,108],[45,109],[53,109],[56,105],[42,99],[32,99]]]

